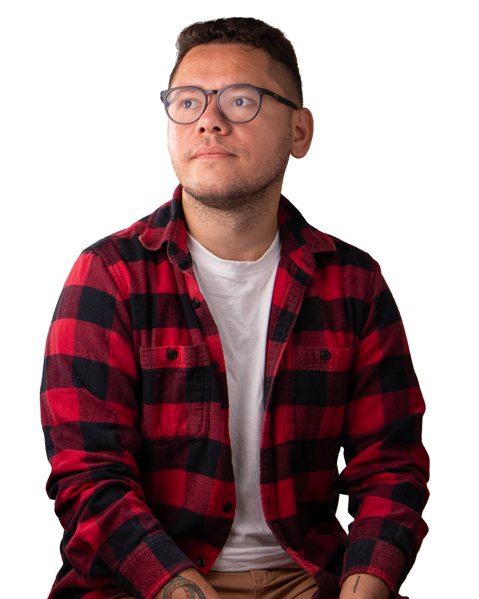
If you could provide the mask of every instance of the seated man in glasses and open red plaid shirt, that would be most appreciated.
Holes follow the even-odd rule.
[[[51,597],[396,596],[429,463],[395,302],[280,195],[313,136],[286,38],[233,18],[179,43],[162,101],[181,185],[82,253],[48,334]]]

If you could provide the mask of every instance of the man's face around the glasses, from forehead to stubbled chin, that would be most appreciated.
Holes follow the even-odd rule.
[[[266,74],[268,61],[263,50],[245,50],[238,44],[196,46],[181,62],[171,86],[208,90],[242,83],[286,97]],[[178,180],[193,198],[221,210],[245,208],[273,181],[282,181],[291,146],[289,108],[270,96],[263,96],[259,113],[248,123],[226,120],[216,94],[208,95],[207,108],[195,123],[168,120],[168,147]],[[214,153],[198,154],[205,149]]]

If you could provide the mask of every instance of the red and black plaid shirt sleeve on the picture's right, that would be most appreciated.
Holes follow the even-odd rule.
[[[341,445],[346,466],[335,491],[349,496],[341,585],[352,574],[382,579],[396,597],[428,526],[425,403],[396,302],[372,261],[371,301],[351,368]],[[368,312],[369,310],[369,312]]]

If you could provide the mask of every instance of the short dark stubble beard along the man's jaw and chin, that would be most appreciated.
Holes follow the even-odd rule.
[[[222,140],[219,137],[211,138],[211,144],[221,146]],[[269,160],[255,165],[245,176],[237,177],[221,189],[211,189],[202,180],[181,176],[180,168],[178,179],[181,177],[180,183],[187,194],[187,199],[192,200],[192,208],[196,215],[201,220],[214,219],[223,225],[228,222],[231,226],[234,222],[235,229],[250,229],[269,207],[271,201],[279,199],[271,197],[271,190],[283,181],[291,144],[292,132],[288,128],[278,141]],[[240,149],[235,151],[241,153]],[[173,167],[175,168],[175,164]]]

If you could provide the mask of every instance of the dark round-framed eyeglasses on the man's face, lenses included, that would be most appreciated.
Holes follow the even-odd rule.
[[[296,104],[277,93],[253,85],[228,85],[222,89],[205,91],[199,87],[171,87],[160,92],[168,118],[178,125],[191,125],[204,113],[208,95],[216,93],[218,110],[231,123],[248,123],[259,113],[263,96],[271,96],[279,102],[298,110]]]

